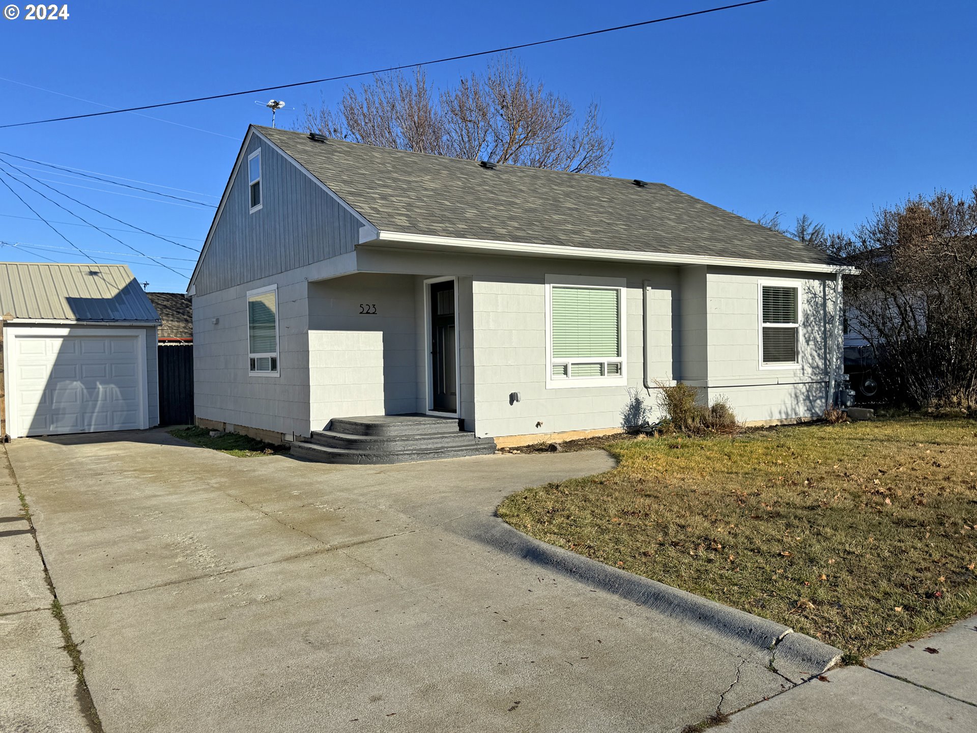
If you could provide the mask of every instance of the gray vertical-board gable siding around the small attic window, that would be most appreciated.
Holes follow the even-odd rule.
[[[247,156],[261,150],[262,207],[249,213]],[[241,155],[196,275],[197,295],[352,252],[362,222],[259,135]]]

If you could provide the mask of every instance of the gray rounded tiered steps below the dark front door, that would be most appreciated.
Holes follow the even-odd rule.
[[[453,417],[375,415],[331,420],[291,453],[323,463],[384,464],[495,453],[495,442],[461,429]]]

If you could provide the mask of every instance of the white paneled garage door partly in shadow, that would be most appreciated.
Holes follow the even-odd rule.
[[[138,336],[19,334],[11,340],[15,437],[144,427]]]

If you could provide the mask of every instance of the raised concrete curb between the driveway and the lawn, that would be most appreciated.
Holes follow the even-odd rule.
[[[841,660],[841,651],[788,626],[673,588],[663,582],[617,570],[570,550],[533,539],[498,517],[465,517],[452,524],[455,532],[510,555],[545,565],[576,581],[614,593],[660,614],[704,626],[769,651],[791,676],[821,674]]]

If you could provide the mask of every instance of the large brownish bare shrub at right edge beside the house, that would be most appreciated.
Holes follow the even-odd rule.
[[[827,248],[862,271],[845,306],[889,386],[919,407],[977,409],[977,187],[880,209]]]

